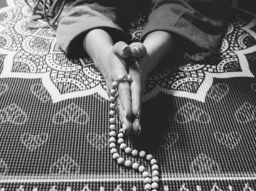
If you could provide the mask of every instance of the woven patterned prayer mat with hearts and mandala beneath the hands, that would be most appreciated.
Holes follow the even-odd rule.
[[[127,141],[150,148],[160,190],[256,190],[256,13],[242,2],[226,2],[210,60],[164,61],[147,81],[143,131]],[[52,29],[26,28],[24,1],[0,6],[0,190],[143,190],[140,174],[111,158],[92,61],[67,58]],[[130,23],[131,41],[146,17]]]

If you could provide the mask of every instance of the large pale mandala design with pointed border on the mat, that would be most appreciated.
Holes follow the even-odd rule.
[[[105,81],[89,58],[69,59],[56,45],[50,28],[28,29],[29,7],[21,0],[8,0],[0,10],[0,77],[41,78],[54,103],[98,93],[108,99]],[[236,8],[225,15],[226,32],[220,48],[203,63],[186,62],[173,68],[166,61],[156,68],[146,85],[144,101],[159,92],[204,102],[213,78],[254,77],[246,54],[255,52],[255,15]],[[131,41],[138,41],[147,14],[130,23]],[[37,21],[37,25],[44,25]]]

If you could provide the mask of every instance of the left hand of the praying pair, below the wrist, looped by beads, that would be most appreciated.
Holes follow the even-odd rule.
[[[112,89],[112,82],[115,81],[120,75],[128,74],[128,58],[131,55],[130,46],[126,43],[119,41],[112,48],[106,47],[104,57],[99,57],[98,63],[101,63],[98,69],[103,74],[107,86],[107,94],[110,96]],[[102,64],[103,63],[103,64]],[[122,126],[126,134],[130,133],[132,129],[132,99],[130,93],[129,82],[121,82],[118,86],[118,99],[117,99],[118,113]]]

